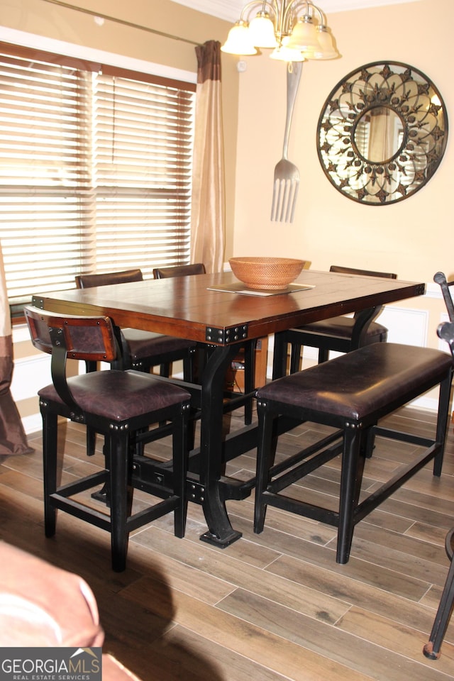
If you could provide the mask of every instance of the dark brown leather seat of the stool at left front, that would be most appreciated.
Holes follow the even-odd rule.
[[[94,371],[70,377],[67,383],[82,411],[118,422],[186,402],[190,397],[189,392],[173,383],[134,370]],[[53,384],[38,395],[64,404]]]

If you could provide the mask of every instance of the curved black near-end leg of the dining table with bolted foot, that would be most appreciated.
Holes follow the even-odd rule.
[[[228,519],[219,480],[223,473],[223,388],[226,370],[238,353],[238,344],[216,346],[202,379],[199,480],[203,488],[202,507],[208,531],[201,541],[225,548],[240,538]]]

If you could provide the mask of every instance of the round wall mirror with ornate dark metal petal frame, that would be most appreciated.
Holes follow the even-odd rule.
[[[373,62],[328,95],[317,126],[326,177],[353,201],[374,206],[408,198],[431,179],[448,139],[441,94],[421,71]]]

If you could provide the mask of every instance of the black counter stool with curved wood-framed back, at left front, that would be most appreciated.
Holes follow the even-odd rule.
[[[187,421],[189,393],[170,382],[135,370],[107,370],[66,376],[68,359],[114,362],[119,347],[109,317],[52,314],[32,306],[24,313],[35,348],[52,355],[52,384],[40,389],[43,417],[45,536],[56,530],[60,509],[111,534],[112,568],[126,567],[131,531],[174,512],[175,536],[183,537],[187,515]],[[84,423],[104,436],[105,469],[67,485],[57,484],[58,417]],[[172,470],[156,462],[153,480],[145,485],[134,473],[137,441],[147,441],[148,427],[172,423]],[[153,460],[151,460],[153,465]],[[105,483],[110,514],[101,513],[76,496]],[[160,501],[132,513],[133,487]]]

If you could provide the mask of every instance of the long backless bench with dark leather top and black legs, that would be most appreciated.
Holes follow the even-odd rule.
[[[373,343],[267,384],[257,392],[259,420],[254,531],[262,532],[267,506],[291,511],[338,528],[336,560],[347,563],[355,524],[387,499],[430,460],[441,475],[453,375],[451,358],[440,350],[397,343]],[[400,406],[439,386],[436,433],[421,438],[379,425]],[[276,419],[289,427],[304,421],[338,428],[309,448],[275,465]],[[421,445],[422,452],[380,489],[359,501],[362,470],[376,435]],[[277,438],[278,442],[278,438]],[[280,494],[339,453],[338,510]]]

